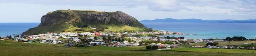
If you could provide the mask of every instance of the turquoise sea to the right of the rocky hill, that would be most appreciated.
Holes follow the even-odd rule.
[[[146,27],[197,35],[170,35],[186,39],[208,39],[243,36],[256,39],[256,23],[142,23]]]

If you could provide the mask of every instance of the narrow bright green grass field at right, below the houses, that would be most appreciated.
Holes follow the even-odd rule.
[[[252,53],[256,50],[241,50],[241,49],[217,49],[217,48],[173,48],[172,51],[185,51],[185,52],[224,52],[224,53]]]

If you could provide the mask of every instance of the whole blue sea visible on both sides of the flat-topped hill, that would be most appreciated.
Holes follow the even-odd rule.
[[[0,23],[0,36],[18,35],[40,23]],[[243,36],[256,39],[256,23],[142,23],[146,27],[164,31],[176,31],[197,35],[170,35],[185,39],[225,39]]]

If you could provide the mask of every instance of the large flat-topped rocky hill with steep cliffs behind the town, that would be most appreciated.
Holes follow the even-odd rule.
[[[22,33],[25,35],[33,33],[47,33],[47,32],[63,32],[69,27],[96,27],[104,31],[106,25],[139,27],[146,29],[146,27],[139,23],[134,17],[125,14],[124,12],[98,12],[91,10],[57,10],[49,12],[42,16],[41,23],[38,27],[31,28]]]

